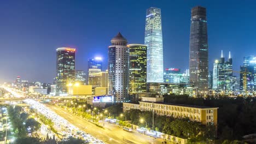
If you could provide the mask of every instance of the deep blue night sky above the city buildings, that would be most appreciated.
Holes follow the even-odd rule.
[[[243,56],[256,55],[256,1],[1,1],[0,82],[52,82],[57,47],[74,47],[76,69],[86,70],[89,57],[107,52],[118,32],[131,43],[144,44],[146,9],[162,13],[164,68],[189,66],[190,10],[207,9],[209,63],[231,57],[239,70]]]

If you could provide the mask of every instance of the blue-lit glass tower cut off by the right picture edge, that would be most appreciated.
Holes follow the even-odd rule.
[[[256,57],[243,57],[243,65],[240,66],[240,92],[253,93],[256,91]]]

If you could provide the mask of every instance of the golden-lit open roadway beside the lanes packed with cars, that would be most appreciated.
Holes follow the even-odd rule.
[[[69,123],[73,124],[75,127],[95,136],[106,143],[161,143],[162,140],[153,139],[152,137],[139,134],[137,131],[127,132],[117,125],[109,124],[105,122],[104,129],[97,127],[95,124],[88,122],[86,119],[74,115],[65,109],[51,105],[45,104],[53,110],[57,115],[65,118]]]

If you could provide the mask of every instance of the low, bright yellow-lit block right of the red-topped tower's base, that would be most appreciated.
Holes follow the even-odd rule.
[[[92,95],[91,85],[68,86],[68,95]]]

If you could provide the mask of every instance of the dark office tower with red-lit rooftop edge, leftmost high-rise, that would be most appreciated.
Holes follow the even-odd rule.
[[[60,47],[57,50],[56,92],[66,93],[67,85],[75,80],[75,49]]]

